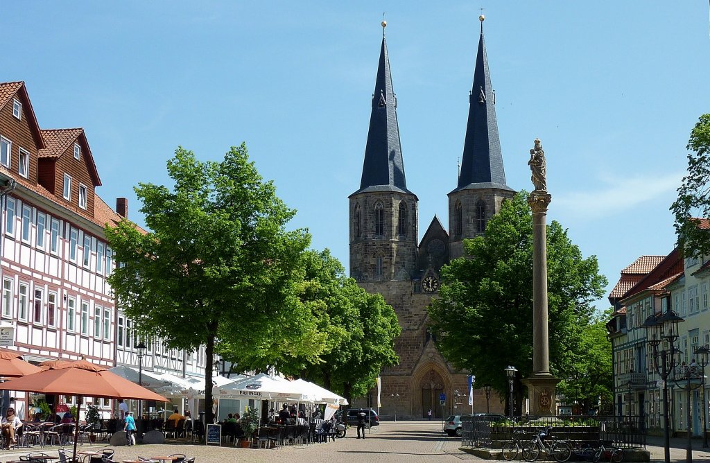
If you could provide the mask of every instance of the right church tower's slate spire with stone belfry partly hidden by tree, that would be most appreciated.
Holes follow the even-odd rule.
[[[496,92],[491,87],[484,43],[484,16],[474,70],[474,86],[469,95],[464,155],[457,188],[449,193],[450,258],[464,254],[463,240],[486,229],[486,222],[501,210],[503,200],[515,195],[506,184],[501,140],[496,121]]]

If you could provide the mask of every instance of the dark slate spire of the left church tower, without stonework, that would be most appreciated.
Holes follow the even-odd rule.
[[[385,23],[383,23],[383,27]],[[370,130],[365,148],[365,162],[362,168],[360,190],[400,191],[407,190],[404,175],[404,162],[400,146],[399,126],[397,124],[397,98],[392,88],[390,60],[387,55],[387,42],[384,29],[380,63],[377,68],[375,93],[372,97]]]

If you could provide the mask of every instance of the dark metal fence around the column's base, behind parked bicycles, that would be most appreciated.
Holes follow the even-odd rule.
[[[499,449],[513,440],[513,431],[523,430],[523,440],[536,432],[552,427],[552,437],[567,440],[572,445],[582,443],[626,448],[646,447],[646,434],[641,416],[541,416],[506,417],[461,416],[461,444],[469,447]]]

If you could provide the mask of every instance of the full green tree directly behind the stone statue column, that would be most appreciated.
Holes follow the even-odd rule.
[[[520,378],[532,373],[532,212],[528,194],[503,202],[486,232],[464,240],[470,258],[442,268],[439,298],[429,310],[439,351],[458,369],[508,394],[507,365]],[[581,334],[589,325],[592,302],[603,294],[606,278],[596,257],[583,258],[567,231],[553,221],[547,227],[547,285],[550,370],[559,378],[571,371],[581,352]]]

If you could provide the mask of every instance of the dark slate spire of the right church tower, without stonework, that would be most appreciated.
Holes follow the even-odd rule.
[[[496,94],[491,87],[491,75],[488,72],[482,16],[474,87],[471,89],[469,102],[469,121],[466,126],[464,156],[461,160],[457,190],[501,188],[513,191],[506,185],[506,170],[503,168],[501,140],[498,138],[496,121]]]

